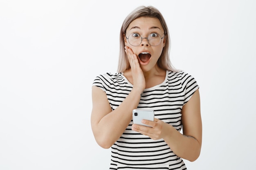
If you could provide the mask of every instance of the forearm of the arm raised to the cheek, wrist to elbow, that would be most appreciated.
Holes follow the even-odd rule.
[[[103,148],[110,148],[123,134],[132,119],[132,110],[137,108],[141,92],[132,89],[124,101],[97,124],[94,136]]]

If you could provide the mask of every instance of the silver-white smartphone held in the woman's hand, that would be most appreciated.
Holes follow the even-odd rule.
[[[132,110],[133,124],[139,124],[143,126],[148,126],[141,123],[142,119],[154,121],[155,112],[154,110],[144,110],[144,109],[134,109]]]

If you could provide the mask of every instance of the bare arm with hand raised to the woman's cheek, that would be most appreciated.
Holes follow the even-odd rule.
[[[132,110],[137,108],[145,78],[139,66],[137,55],[126,47],[132,70],[133,88],[124,101],[112,111],[107,95],[100,88],[92,87],[91,126],[99,146],[110,148],[126,130],[132,119]]]

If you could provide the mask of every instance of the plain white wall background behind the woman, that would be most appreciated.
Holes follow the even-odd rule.
[[[254,168],[256,1],[0,0],[0,170],[108,169],[91,84],[116,71],[121,24],[139,5],[162,12],[173,65],[200,85],[202,152],[187,168]]]

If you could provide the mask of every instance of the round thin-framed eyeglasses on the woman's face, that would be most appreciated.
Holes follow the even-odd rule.
[[[145,38],[148,40],[148,44],[150,44],[151,46],[158,46],[164,36],[161,37],[161,35],[159,35],[158,33],[151,33],[148,35],[148,37]],[[128,38],[126,37],[126,39],[132,46],[138,46],[139,44],[141,44],[144,38],[142,38],[141,35],[139,35],[138,33],[131,33]]]

